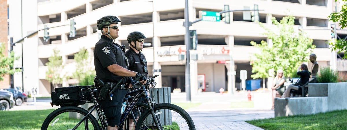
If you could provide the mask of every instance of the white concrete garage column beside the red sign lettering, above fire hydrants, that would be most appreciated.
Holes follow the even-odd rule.
[[[226,36],[225,42],[227,45],[229,45],[229,57],[230,57],[230,62],[229,66],[227,67],[228,69],[228,94],[234,94],[236,88],[235,88],[235,61],[232,58],[232,52],[234,49],[234,36]]]

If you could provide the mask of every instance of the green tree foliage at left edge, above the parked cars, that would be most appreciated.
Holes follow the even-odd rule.
[[[10,69],[13,68],[13,62],[18,60],[19,57],[14,57],[13,51],[10,52],[9,56],[6,56],[5,53],[5,44],[0,44],[0,81],[3,80],[3,77],[7,74],[13,74],[15,72],[21,71],[20,69]]]

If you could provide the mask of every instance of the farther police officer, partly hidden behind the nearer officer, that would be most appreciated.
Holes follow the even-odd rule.
[[[141,53],[145,38],[147,37],[141,32],[129,33],[127,41],[129,43],[130,49],[125,52],[125,56],[129,61],[129,70],[144,74],[148,78],[146,57]],[[145,98],[141,97],[138,102],[146,103],[146,100]],[[138,118],[137,112],[134,113],[134,116],[135,118]],[[129,119],[130,130],[133,129],[134,126],[134,122],[132,120],[133,119]]]

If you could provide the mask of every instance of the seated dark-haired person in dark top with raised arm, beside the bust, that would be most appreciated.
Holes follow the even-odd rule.
[[[301,64],[301,66],[298,67],[296,73],[300,76],[300,80],[298,82],[299,85],[306,84],[308,79],[310,79],[311,73],[308,71],[306,64]],[[289,85],[286,91],[283,93],[282,97],[290,97],[290,90],[292,89],[299,90],[299,86]]]

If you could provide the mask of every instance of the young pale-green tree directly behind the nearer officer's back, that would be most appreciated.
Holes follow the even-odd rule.
[[[79,50],[74,58],[76,62],[76,71],[73,73],[73,78],[76,78],[79,85],[92,85],[94,83],[95,70],[90,66],[91,58],[85,48]]]

